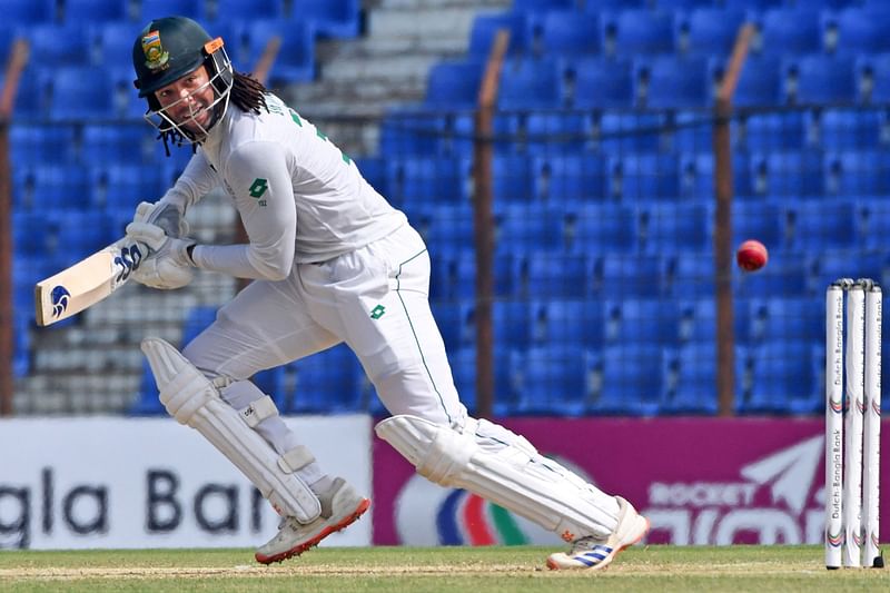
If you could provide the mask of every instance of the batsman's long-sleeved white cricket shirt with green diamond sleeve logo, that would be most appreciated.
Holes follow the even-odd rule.
[[[164,200],[182,211],[222,185],[238,208],[247,245],[199,245],[202,269],[277,280],[294,263],[326,261],[406,223],[355,162],[278,97],[269,112],[229,106]]]

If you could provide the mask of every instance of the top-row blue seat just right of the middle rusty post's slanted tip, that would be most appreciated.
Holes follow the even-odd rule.
[[[515,10],[515,7],[514,7]],[[533,50],[551,56],[600,53],[602,30],[600,17],[577,10],[552,10],[533,21]]]

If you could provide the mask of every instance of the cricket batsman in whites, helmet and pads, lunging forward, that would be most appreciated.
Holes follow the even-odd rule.
[[[134,271],[160,289],[195,268],[254,281],[180,353],[142,342],[160,401],[228,457],[283,516],[256,552],[268,564],[301,554],[370,505],[332,476],[249,377],[345,342],[392,417],[377,435],[426,478],[466,488],[562,536],[551,569],[599,570],[640,541],[649,521],[545,458],[524,437],[467,415],[428,304],[429,256],[405,215],[325,135],[254,78],[197,22],[149,22],[132,50],[148,119],[194,156],[127,235],[149,246]],[[185,215],[224,187],[244,245],[200,245]]]

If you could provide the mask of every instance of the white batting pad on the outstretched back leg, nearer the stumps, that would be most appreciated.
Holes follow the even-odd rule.
[[[566,541],[606,536],[617,526],[614,497],[497,424],[467,418],[457,432],[400,415],[380,422],[375,431],[429,481],[468,490]]]

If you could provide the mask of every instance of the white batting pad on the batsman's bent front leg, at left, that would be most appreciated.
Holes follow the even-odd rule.
[[[250,424],[268,414],[270,402],[257,402],[238,413],[219,397],[219,391],[182,354],[160,338],[142,340],[160,401],[179,424],[198,431],[263,493],[284,516],[309,523],[322,513],[318,497],[297,476],[296,470],[312,454],[278,456]],[[274,406],[273,406],[274,407]],[[277,412],[277,411],[276,411]],[[296,465],[296,467],[294,467]],[[305,465],[305,463],[303,464]]]

